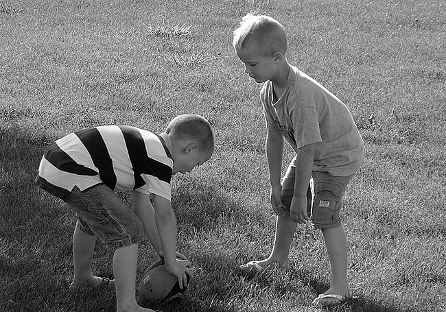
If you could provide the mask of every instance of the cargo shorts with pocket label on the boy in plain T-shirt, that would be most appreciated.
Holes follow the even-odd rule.
[[[288,210],[294,194],[295,172],[296,157],[291,161],[282,180],[281,199]],[[331,176],[327,172],[312,172],[313,180],[307,190],[307,213],[314,228],[336,228],[342,225],[340,218],[342,197],[353,176]]]

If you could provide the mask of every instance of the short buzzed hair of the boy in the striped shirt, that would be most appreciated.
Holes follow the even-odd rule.
[[[195,114],[179,115],[170,121],[165,133],[172,132],[180,140],[195,140],[202,152],[213,150],[213,131],[204,117]]]

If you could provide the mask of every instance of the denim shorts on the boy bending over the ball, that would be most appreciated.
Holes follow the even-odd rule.
[[[145,239],[139,217],[104,184],[84,191],[74,187],[66,202],[78,215],[78,228],[99,237],[112,248],[126,247]]]

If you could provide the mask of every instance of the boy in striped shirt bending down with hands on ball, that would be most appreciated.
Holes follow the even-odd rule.
[[[209,160],[212,152],[211,126],[198,115],[174,118],[159,135],[104,125],[51,143],[36,184],[67,202],[78,215],[71,287],[115,283],[117,311],[152,311],[139,307],[135,298],[138,245],[147,236],[183,288],[191,270],[185,256],[176,252],[170,180],[175,173],[189,172]],[[115,191],[132,192],[134,212]],[[115,248],[115,280],[91,272],[96,237]]]

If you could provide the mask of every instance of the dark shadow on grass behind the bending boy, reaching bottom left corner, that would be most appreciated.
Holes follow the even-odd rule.
[[[95,292],[68,290],[75,216],[34,184],[49,141],[18,126],[0,125],[0,311],[113,311],[99,306],[114,305],[114,293],[107,295],[113,300],[98,301]],[[100,263],[96,269],[110,273]]]

